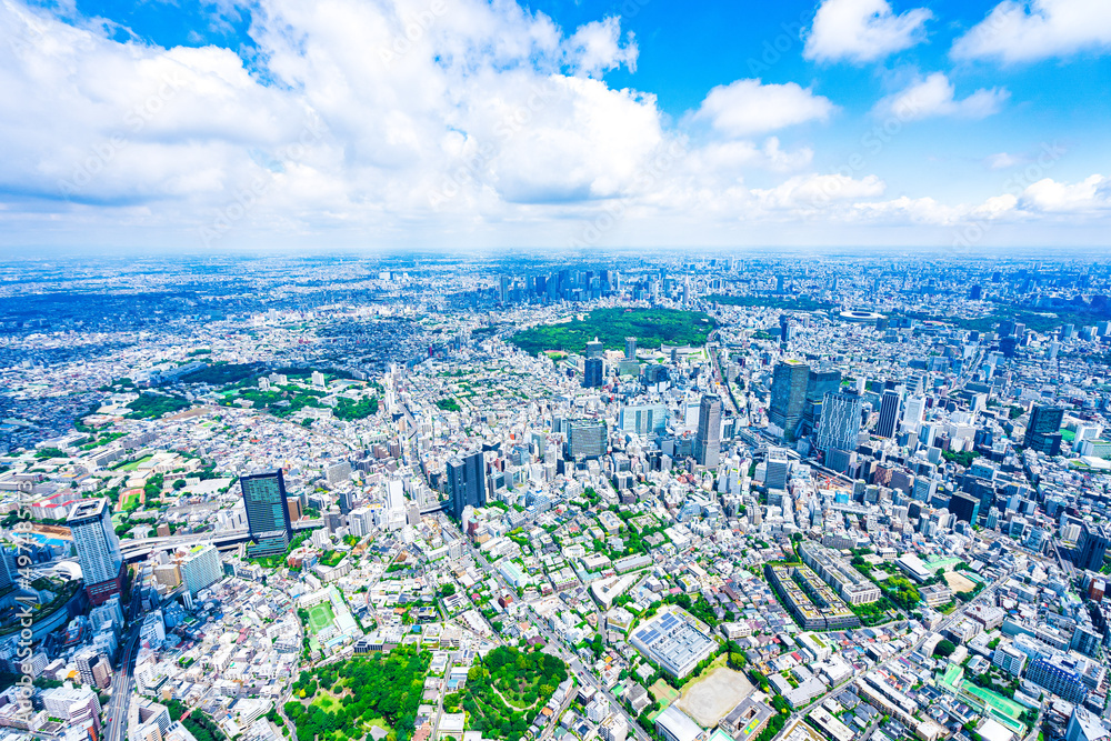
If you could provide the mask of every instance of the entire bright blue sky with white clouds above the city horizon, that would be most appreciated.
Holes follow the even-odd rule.
[[[1103,246],[1109,4],[13,0],[0,247]]]

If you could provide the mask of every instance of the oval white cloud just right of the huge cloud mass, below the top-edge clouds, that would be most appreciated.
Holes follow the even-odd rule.
[[[708,121],[730,137],[767,133],[805,121],[825,121],[834,106],[794,82],[761,84],[760,80],[737,80],[718,86],[702,101],[693,119]]]

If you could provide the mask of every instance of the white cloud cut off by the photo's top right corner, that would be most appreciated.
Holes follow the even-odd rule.
[[[1111,49],[1107,0],[1004,0],[953,42],[957,59],[1028,62]]]

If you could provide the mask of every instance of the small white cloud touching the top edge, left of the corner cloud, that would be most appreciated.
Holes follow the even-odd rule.
[[[873,62],[925,40],[925,8],[895,14],[887,0],[824,0],[802,56],[817,61]]]

